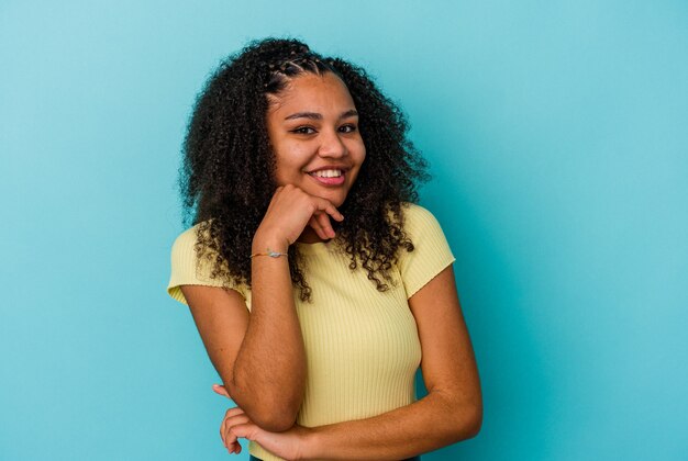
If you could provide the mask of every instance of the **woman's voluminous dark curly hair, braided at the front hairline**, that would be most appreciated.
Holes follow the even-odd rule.
[[[347,87],[359,114],[366,160],[340,207],[335,241],[360,266],[377,290],[393,283],[389,271],[400,249],[413,250],[403,232],[402,204],[418,201],[426,162],[408,139],[401,110],[365,70],[322,57],[296,40],[249,43],[224,59],[197,98],[182,145],[180,190],[184,222],[199,224],[196,251],[211,262],[212,278],[251,285],[252,240],[276,184],[266,127],[269,98],[304,72],[333,72]],[[302,301],[311,299],[298,247],[288,250],[289,270]]]

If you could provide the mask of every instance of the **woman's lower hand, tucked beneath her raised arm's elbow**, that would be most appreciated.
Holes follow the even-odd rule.
[[[225,397],[230,397],[223,385],[214,384],[212,390]],[[311,429],[295,425],[284,432],[268,432],[255,425],[240,408],[228,409],[220,426],[222,442],[230,453],[241,453],[242,448],[237,438],[253,440],[266,450],[286,460],[300,459],[306,451],[306,443]]]

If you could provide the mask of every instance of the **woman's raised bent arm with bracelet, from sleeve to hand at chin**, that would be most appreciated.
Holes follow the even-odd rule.
[[[279,188],[256,231],[252,254],[286,251],[304,227],[334,236],[328,215],[341,214],[324,199]],[[246,255],[248,257],[248,255]],[[287,258],[252,260],[252,312],[235,291],[185,285],[198,330],[232,400],[260,427],[291,427],[303,398],[306,353]]]

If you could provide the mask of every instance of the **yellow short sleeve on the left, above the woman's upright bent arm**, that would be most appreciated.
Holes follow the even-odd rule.
[[[180,303],[188,304],[181,293],[181,285],[204,285],[220,286],[236,290],[246,299],[245,290],[242,286],[228,285],[221,278],[211,278],[212,263],[206,258],[199,260],[196,252],[198,225],[181,233],[171,248],[171,274],[167,293]]]

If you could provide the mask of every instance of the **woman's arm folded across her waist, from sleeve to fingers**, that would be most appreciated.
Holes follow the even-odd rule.
[[[425,397],[371,418],[312,429],[297,426],[271,434],[259,425],[238,423],[231,431],[288,459],[319,460],[399,460],[476,436],[482,420],[480,383],[452,268],[409,304],[423,350]]]

